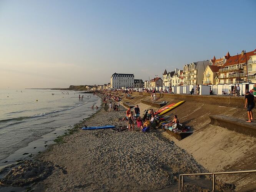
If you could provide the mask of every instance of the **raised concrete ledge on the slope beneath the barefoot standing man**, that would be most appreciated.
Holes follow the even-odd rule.
[[[246,122],[244,119],[224,116],[224,115],[213,115],[210,116],[210,124],[224,127],[231,131],[249,135],[252,137],[256,136],[256,122]]]

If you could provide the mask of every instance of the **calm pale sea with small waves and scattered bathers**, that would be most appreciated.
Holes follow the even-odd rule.
[[[83,100],[79,100],[79,94]],[[0,89],[0,167],[32,157],[96,113],[101,98],[51,89]]]

